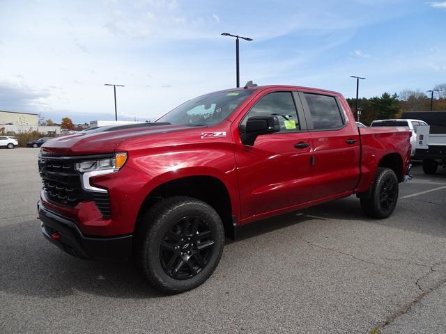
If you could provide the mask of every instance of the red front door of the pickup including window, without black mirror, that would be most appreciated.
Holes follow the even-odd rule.
[[[281,124],[280,132],[258,136],[252,146],[236,144],[242,219],[312,198],[311,137],[294,96],[291,90],[268,92],[240,122],[244,127],[249,117],[275,115]]]

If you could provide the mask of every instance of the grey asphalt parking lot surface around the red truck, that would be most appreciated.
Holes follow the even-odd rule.
[[[400,185],[394,214],[351,196],[247,226],[203,285],[165,296],[132,263],[89,262],[36,219],[38,149],[0,150],[0,333],[446,331],[446,171]]]

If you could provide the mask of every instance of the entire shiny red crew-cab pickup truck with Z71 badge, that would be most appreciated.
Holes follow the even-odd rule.
[[[240,225],[352,194],[365,214],[390,216],[410,168],[409,137],[358,129],[332,91],[222,90],[157,122],[47,141],[41,229],[77,257],[134,256],[155,287],[184,292],[213,273],[225,233]]]

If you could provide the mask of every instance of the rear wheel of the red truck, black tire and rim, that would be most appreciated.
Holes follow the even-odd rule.
[[[377,168],[371,196],[361,198],[362,211],[373,218],[387,218],[398,201],[398,179],[390,168]]]

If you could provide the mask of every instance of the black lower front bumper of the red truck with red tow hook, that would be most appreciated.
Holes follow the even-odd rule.
[[[42,233],[61,250],[88,260],[126,260],[132,253],[132,234],[119,237],[87,237],[69,218],[45,209],[38,202]]]

